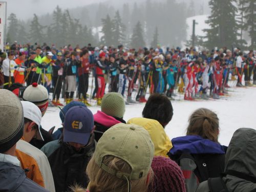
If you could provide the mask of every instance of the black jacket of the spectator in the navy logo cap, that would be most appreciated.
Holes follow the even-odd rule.
[[[89,143],[79,152],[61,140],[47,143],[41,151],[48,157],[56,192],[68,191],[74,183],[87,187],[89,179],[86,167],[95,151],[93,134]]]

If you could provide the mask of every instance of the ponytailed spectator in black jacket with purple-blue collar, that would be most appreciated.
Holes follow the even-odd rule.
[[[219,118],[216,113],[200,108],[188,120],[187,134],[172,139],[169,157],[181,167],[188,192],[210,177],[224,171],[226,147],[218,142]]]

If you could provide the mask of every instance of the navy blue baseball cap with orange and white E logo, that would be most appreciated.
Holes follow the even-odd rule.
[[[86,145],[94,127],[92,112],[86,106],[73,106],[64,120],[64,142],[75,142]]]

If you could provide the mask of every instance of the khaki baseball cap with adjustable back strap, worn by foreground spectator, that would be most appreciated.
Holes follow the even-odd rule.
[[[131,166],[131,173],[122,173],[103,163],[105,156],[122,159]],[[127,180],[131,191],[131,180],[147,176],[154,157],[154,144],[148,132],[135,124],[118,123],[99,139],[94,153],[95,162],[105,172]]]

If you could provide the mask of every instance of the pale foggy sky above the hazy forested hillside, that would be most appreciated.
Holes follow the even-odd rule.
[[[44,15],[52,13],[57,5],[61,9],[70,9],[81,6],[86,6],[93,3],[109,2],[111,5],[123,4],[123,3],[140,3],[146,0],[0,0],[7,2],[7,17],[10,13],[16,14],[20,20],[27,20],[33,17],[33,14]],[[152,0],[152,1],[168,1],[168,0]],[[190,0],[176,0],[177,2],[190,3]],[[209,0],[194,0],[196,3],[204,3],[205,11],[208,9]]]

